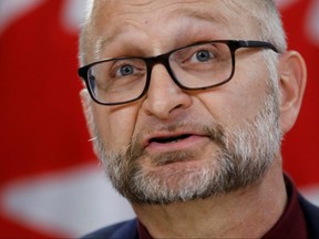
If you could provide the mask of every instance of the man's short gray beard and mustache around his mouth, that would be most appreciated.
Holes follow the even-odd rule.
[[[212,160],[203,167],[173,169],[164,166],[162,170],[147,170],[143,159],[151,162],[153,167],[162,166],[196,158],[200,148],[151,156],[143,150],[137,135],[126,150],[106,152],[96,134],[95,143],[106,175],[121,195],[138,205],[204,199],[258,184],[279,154],[282,136],[278,124],[278,97],[274,89],[270,90],[256,117],[236,128],[196,122],[161,126],[172,132],[192,128],[207,135],[213,153]]]

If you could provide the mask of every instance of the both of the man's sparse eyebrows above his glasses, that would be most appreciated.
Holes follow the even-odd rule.
[[[214,23],[219,23],[219,24],[227,24],[229,22],[229,19],[227,19],[225,15],[219,14],[216,11],[214,12],[213,10],[207,10],[203,12],[203,10],[199,11],[196,8],[186,7],[186,8],[183,8],[182,10],[176,9],[175,11],[173,11],[173,13],[174,12],[176,12],[177,14],[183,14],[186,18],[193,18],[196,20],[202,20],[202,21],[204,20],[207,22],[214,22]],[[123,28],[122,29],[117,28],[115,31],[112,32],[112,34],[100,37],[96,40],[96,44],[94,45],[95,56],[99,58],[99,54],[105,49],[105,46],[109,43],[114,42],[116,38],[121,35],[122,32],[123,32]]]

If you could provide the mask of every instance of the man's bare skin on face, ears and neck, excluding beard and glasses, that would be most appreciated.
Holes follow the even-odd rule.
[[[186,10],[189,6],[196,9],[195,15]],[[89,62],[123,55],[158,55],[204,40],[258,39],[256,22],[246,15],[234,14],[231,9],[216,0],[99,1],[96,9],[94,15],[97,20],[90,38],[99,44],[94,49],[86,46]],[[240,50],[233,80],[216,89],[185,92],[158,64],[153,69],[150,90],[141,101],[107,107],[92,102],[86,90],[81,96],[92,135],[94,118],[106,150],[119,150],[126,148],[132,137],[143,128],[158,124],[196,119],[203,123],[218,121],[229,128],[236,127],[257,114],[266,97],[268,80],[261,51]],[[278,81],[279,124],[287,133],[299,114],[306,85],[306,66],[299,53],[290,51],[280,56]],[[145,138],[163,134],[168,133],[155,131]],[[214,160],[207,156],[212,155],[214,147],[208,146],[205,136],[164,147],[150,145],[147,150],[160,154],[183,148],[193,149],[198,156],[164,166],[156,166],[144,158],[144,169],[156,170],[165,177],[168,169],[205,167],[207,160]],[[173,187],[174,181],[171,184]],[[278,153],[260,184],[204,200],[165,206],[132,204],[132,207],[154,238],[258,238],[279,219],[286,200],[281,156]]]

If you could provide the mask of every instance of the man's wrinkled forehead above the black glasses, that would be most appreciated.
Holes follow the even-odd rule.
[[[141,42],[165,38],[166,42],[188,39],[192,33],[209,38],[212,31],[219,39],[253,39],[255,21],[241,12],[243,3],[236,0],[96,0],[91,24],[95,52],[127,39],[133,45],[134,39]]]

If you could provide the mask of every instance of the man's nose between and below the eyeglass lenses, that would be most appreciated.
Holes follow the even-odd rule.
[[[168,119],[174,112],[192,105],[192,97],[172,80],[162,64],[154,65],[143,110],[147,115]]]

